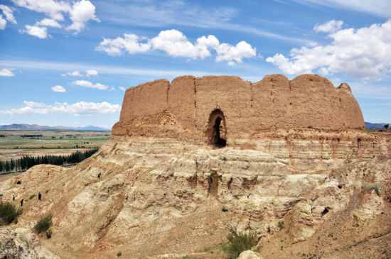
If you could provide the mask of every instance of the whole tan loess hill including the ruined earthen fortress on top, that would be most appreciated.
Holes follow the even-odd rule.
[[[129,88],[95,155],[1,184],[43,200],[0,228],[0,258],[226,258],[228,226],[264,258],[389,256],[391,136],[364,129],[348,84],[317,75]],[[31,233],[49,213],[52,237]]]

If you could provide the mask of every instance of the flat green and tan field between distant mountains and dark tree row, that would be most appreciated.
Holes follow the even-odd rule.
[[[99,148],[109,131],[0,131],[0,160],[23,155],[70,155]]]

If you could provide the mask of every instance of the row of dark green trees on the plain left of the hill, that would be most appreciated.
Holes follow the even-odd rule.
[[[6,161],[0,161],[0,172],[11,172],[19,170],[28,170],[34,165],[50,164],[50,165],[68,165],[75,164],[86,158],[90,158],[97,148],[86,150],[84,152],[76,151],[71,155],[38,155],[36,157],[24,155],[22,158],[16,158]]]

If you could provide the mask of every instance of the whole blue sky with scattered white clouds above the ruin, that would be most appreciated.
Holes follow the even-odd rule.
[[[154,79],[306,73],[391,122],[391,1],[0,0],[0,125],[111,128]]]

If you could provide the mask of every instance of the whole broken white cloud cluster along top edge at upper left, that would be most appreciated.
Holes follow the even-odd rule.
[[[41,31],[46,31],[47,27],[61,28],[62,26],[60,25],[60,23],[58,23],[58,21],[65,20],[64,14],[68,14],[70,21],[72,21],[72,24],[70,24],[70,26],[67,26],[66,29],[68,31],[75,31],[75,33],[79,33],[82,28],[85,27],[86,23],[90,20],[100,22],[100,20],[95,16],[95,6],[88,0],[75,1],[72,5],[67,1],[55,0],[12,1],[16,6],[21,6],[26,9],[37,11],[39,13],[45,13],[45,15],[50,17],[44,18],[42,21],[37,22],[35,24],[36,30],[37,28],[41,28]]]

